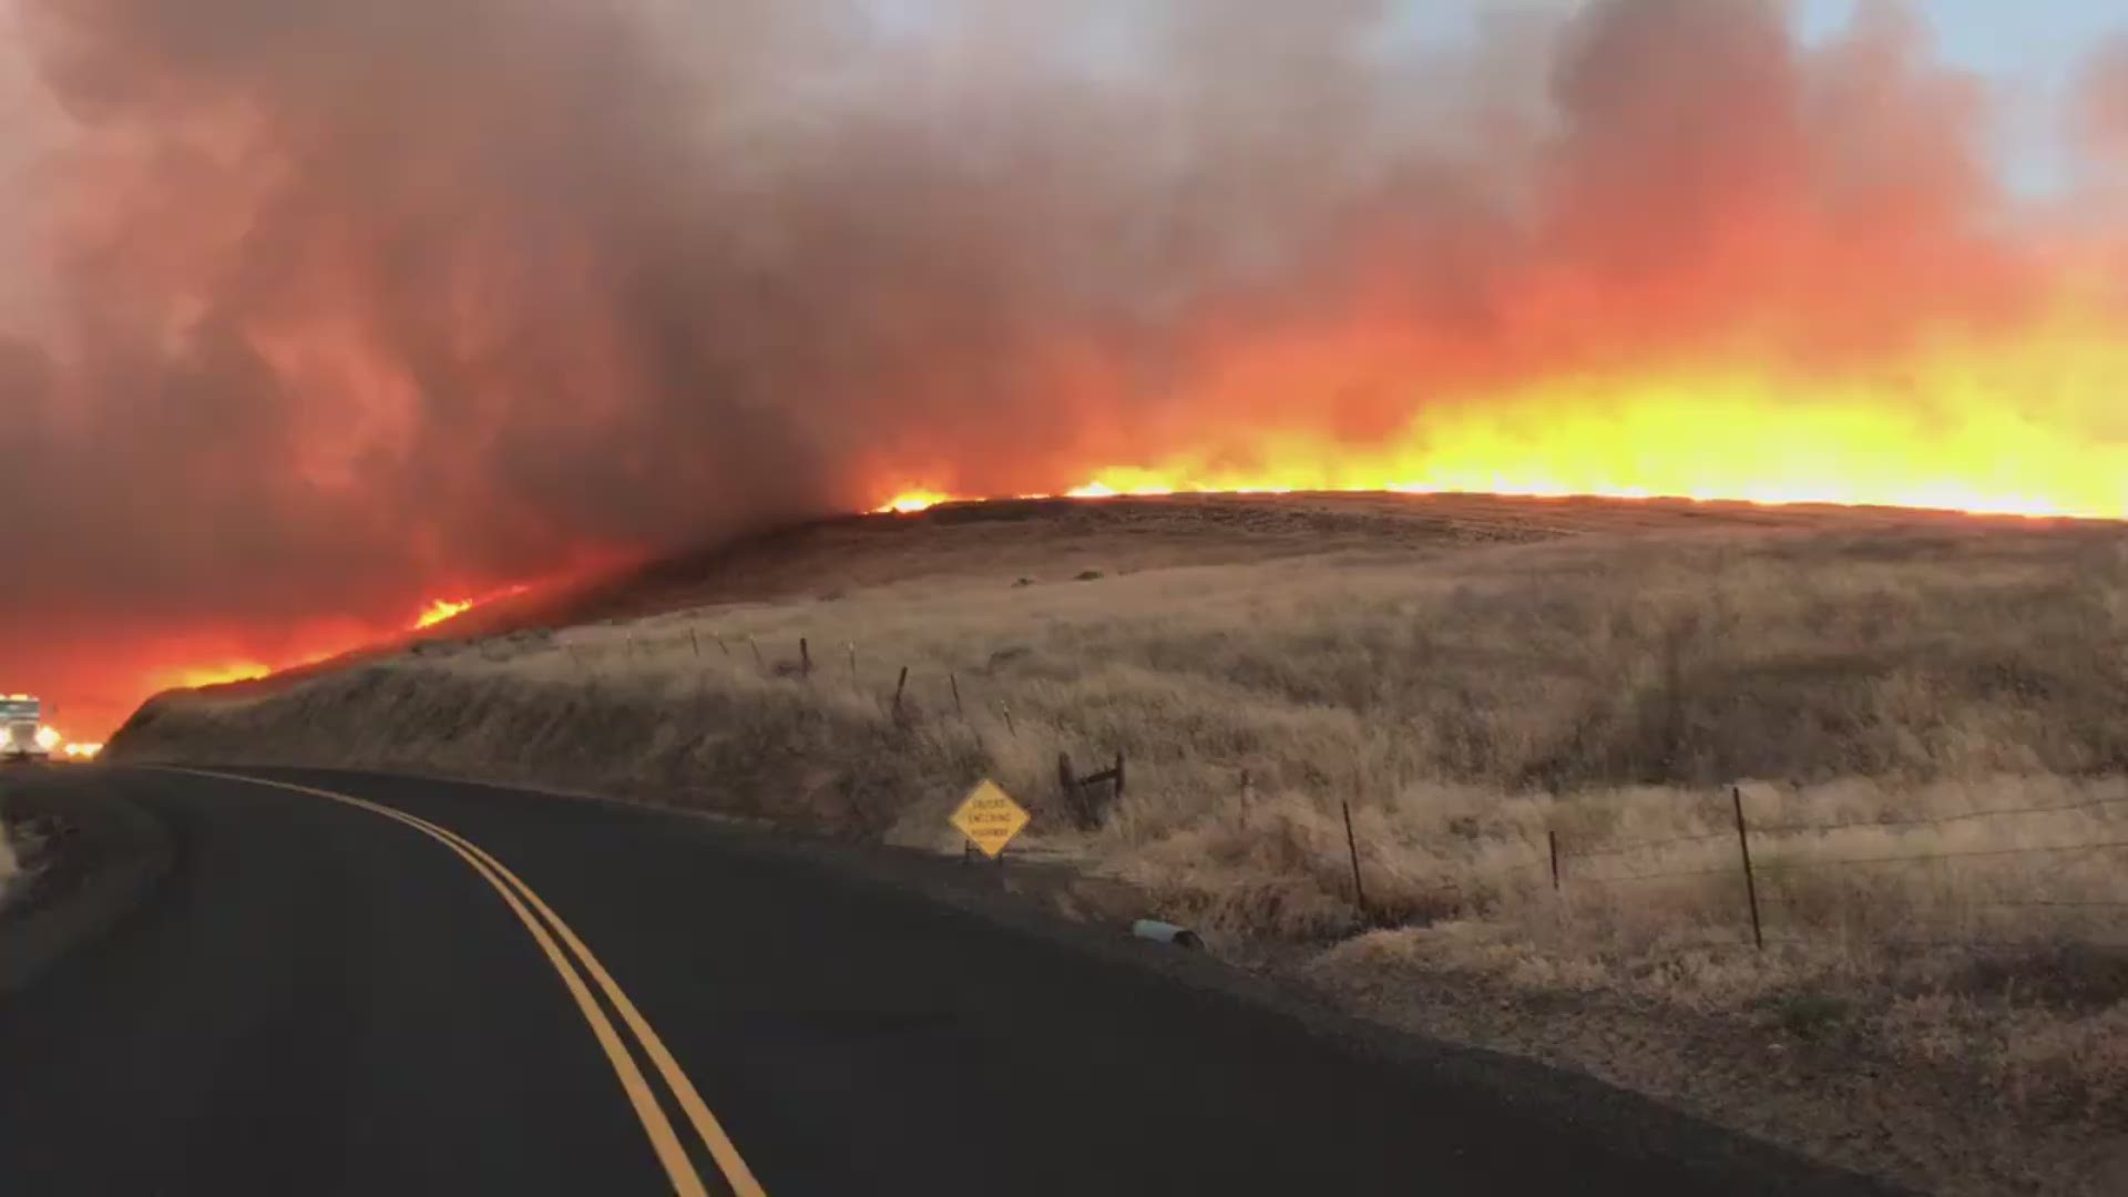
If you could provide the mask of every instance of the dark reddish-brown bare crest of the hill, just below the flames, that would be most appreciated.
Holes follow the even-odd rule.
[[[2054,522],[1971,520],[1868,507],[1496,498],[1404,494],[1202,494],[953,503],[913,515],[849,515],[675,556],[551,596],[475,611],[451,630],[500,633],[719,603],[832,596],[930,577],[1077,577],[1258,564],[1321,554],[1436,556],[1587,535],[1696,530],[1913,530]],[[2062,522],[2060,526],[2075,526]]]

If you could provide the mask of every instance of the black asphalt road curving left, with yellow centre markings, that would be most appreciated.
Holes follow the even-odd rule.
[[[174,865],[0,999],[0,1193],[1860,1191],[704,820],[272,775],[377,805],[45,782],[147,807]]]

